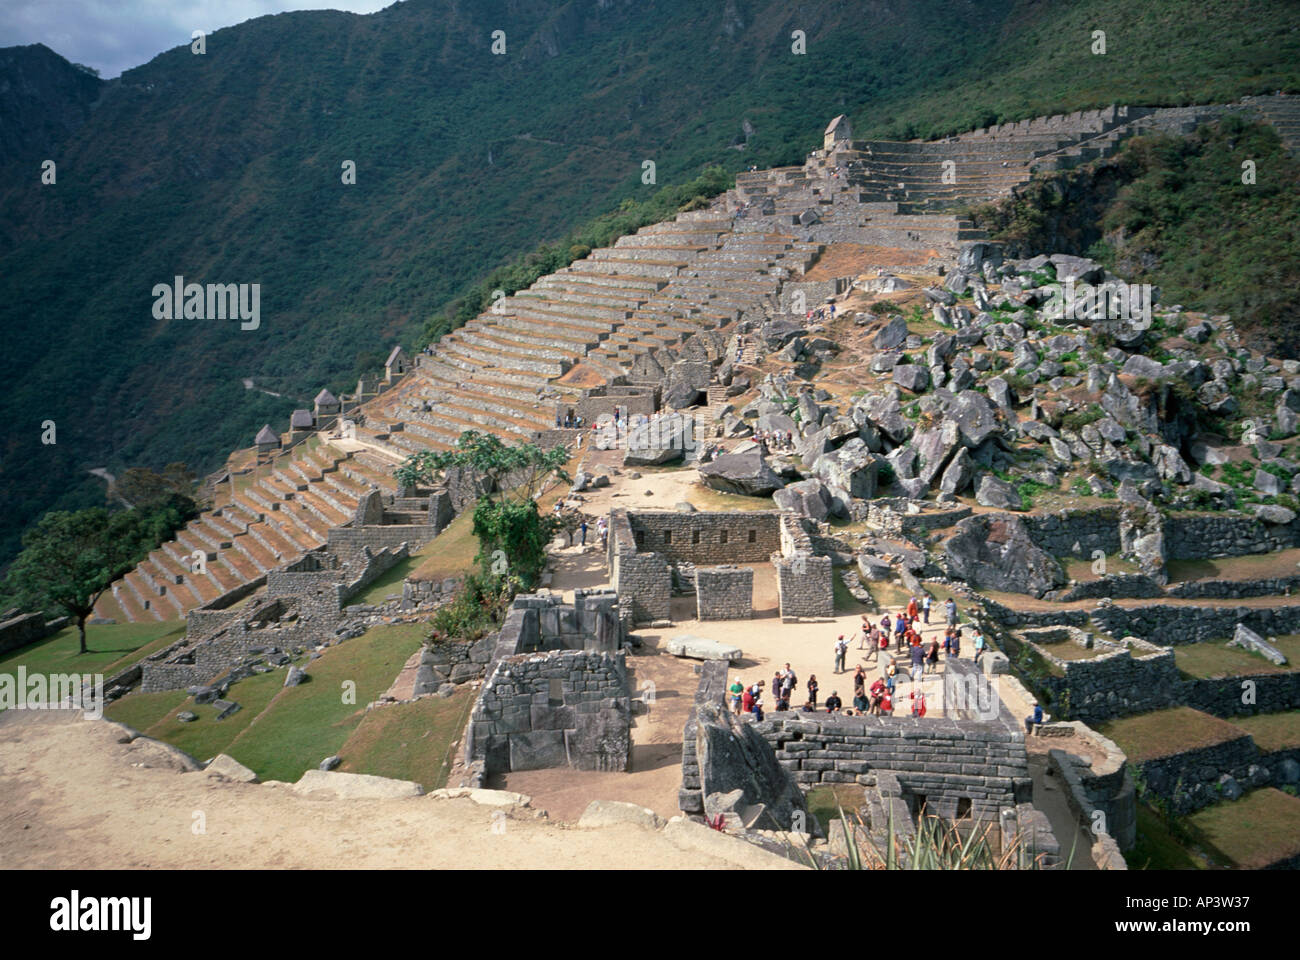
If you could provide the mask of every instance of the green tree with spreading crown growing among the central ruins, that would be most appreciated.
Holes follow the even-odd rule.
[[[399,484],[433,483],[447,470],[465,470],[482,479],[484,494],[473,514],[478,537],[480,574],[488,580],[507,580],[511,591],[532,589],[546,566],[546,544],[559,526],[542,516],[537,494],[554,476],[568,483],[564,471],[568,453],[563,446],[542,450],[537,444],[507,446],[490,433],[467,431],[452,450],[425,450],[407,458],[394,472]]]

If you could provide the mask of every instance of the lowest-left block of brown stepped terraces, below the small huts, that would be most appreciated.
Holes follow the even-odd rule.
[[[322,442],[299,445],[233,476],[212,510],[113,583],[96,615],[182,619],[231,591],[251,589],[268,570],[322,545],[332,527],[352,519],[365,493],[394,493],[391,473],[393,464],[373,454],[343,453]]]

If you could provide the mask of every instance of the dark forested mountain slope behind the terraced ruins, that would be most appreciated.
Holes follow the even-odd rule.
[[[87,78],[99,95],[84,122],[58,127],[57,143],[27,125],[0,155],[0,373],[14,424],[0,450],[0,562],[34,515],[101,497],[87,468],[211,470],[321,385],[350,388],[497,263],[649,196],[646,160],[663,185],[707,163],[798,161],[846,111],[879,133],[1296,85],[1300,40],[1261,13],[1275,7],[1209,4],[1201,31],[1170,46],[1179,8],[410,0],[368,17],[261,17],[216,31],[203,56],[179,47],[117,81]],[[1080,60],[1087,39],[1061,26],[1076,33],[1089,16],[1119,52],[1166,55],[1167,69]],[[792,53],[796,30],[806,56]],[[1218,75],[1206,36],[1236,73]],[[0,120],[12,103],[0,98]],[[22,160],[43,137],[56,186]],[[346,160],[355,185],[341,181]],[[260,284],[261,325],[155,320],[151,291],[177,274]],[[53,446],[40,444],[47,419]]]

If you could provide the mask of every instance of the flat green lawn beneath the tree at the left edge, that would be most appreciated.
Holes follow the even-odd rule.
[[[79,648],[77,627],[64,627],[53,636],[0,657],[0,674],[104,674],[107,680],[124,667],[185,636],[185,620],[108,623],[86,627],[86,654]]]

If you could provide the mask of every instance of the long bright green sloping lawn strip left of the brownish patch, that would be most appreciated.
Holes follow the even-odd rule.
[[[425,631],[422,623],[385,624],[329,648],[308,665],[312,679],[281,689],[225,752],[264,780],[296,780],[347,743],[365,717],[365,705],[387,691]],[[239,701],[244,683],[231,687],[234,700]],[[346,683],[355,684],[354,702],[344,702]]]

